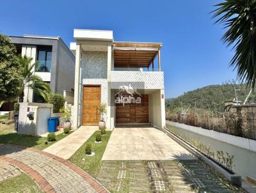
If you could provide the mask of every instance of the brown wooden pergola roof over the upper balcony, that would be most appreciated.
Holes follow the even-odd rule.
[[[114,66],[116,68],[149,68],[158,56],[158,68],[161,71],[160,49],[162,43],[114,42]]]

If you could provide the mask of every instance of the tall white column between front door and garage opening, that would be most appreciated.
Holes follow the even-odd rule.
[[[106,128],[110,129],[110,120],[111,120],[111,58],[112,58],[112,45],[108,44],[108,120]]]

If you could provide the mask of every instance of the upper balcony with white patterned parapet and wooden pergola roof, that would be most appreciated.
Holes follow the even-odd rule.
[[[164,89],[164,73],[161,72],[160,59],[161,47],[162,43],[113,43],[114,68],[111,71],[111,89],[129,86],[129,84],[136,89]],[[157,56],[158,72],[154,71],[157,67],[154,66]],[[148,71],[150,66],[152,66],[152,72]]]

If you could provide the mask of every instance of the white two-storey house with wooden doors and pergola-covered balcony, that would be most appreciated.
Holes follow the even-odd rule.
[[[108,105],[108,129],[116,124],[165,126],[162,43],[113,42],[113,31],[87,29],[74,29],[74,38],[74,128],[98,125],[100,102]],[[155,72],[148,72],[152,67]]]

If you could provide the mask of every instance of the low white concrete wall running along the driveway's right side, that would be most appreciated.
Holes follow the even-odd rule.
[[[210,145],[215,154],[217,150],[222,150],[234,155],[234,172],[243,178],[249,176],[256,179],[256,141],[170,121],[166,122],[166,127],[172,127],[177,134],[190,140]]]

